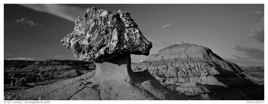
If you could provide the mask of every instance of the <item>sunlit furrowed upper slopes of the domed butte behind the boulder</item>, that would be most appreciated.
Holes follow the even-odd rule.
[[[132,68],[134,71],[148,69],[152,75],[162,77],[165,82],[171,84],[197,82],[227,87],[236,85],[229,81],[232,78],[241,83],[248,82],[239,78],[243,74],[236,64],[225,61],[210,49],[195,44],[168,46],[159,53],[148,56],[143,63],[132,64]],[[223,84],[218,79],[228,83]]]

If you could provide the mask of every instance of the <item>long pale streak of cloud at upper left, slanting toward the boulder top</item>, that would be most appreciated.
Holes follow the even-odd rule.
[[[78,16],[83,16],[85,10],[81,8],[64,5],[64,4],[20,4],[24,7],[37,10],[40,12],[46,12],[61,18],[65,18],[72,22],[78,20]]]

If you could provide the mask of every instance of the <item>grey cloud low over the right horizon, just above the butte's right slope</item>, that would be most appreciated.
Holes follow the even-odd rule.
[[[239,45],[235,45],[234,47],[232,47],[232,49],[238,52],[241,52],[242,55],[247,56],[247,57],[244,57],[247,60],[264,60],[264,50],[257,49],[257,48],[242,47]],[[241,56],[235,56],[235,57],[239,59],[243,58]]]

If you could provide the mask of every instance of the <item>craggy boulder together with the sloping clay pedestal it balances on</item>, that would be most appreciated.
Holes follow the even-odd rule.
[[[162,86],[148,72],[132,71],[130,54],[148,55],[152,44],[127,12],[88,8],[76,21],[74,32],[61,42],[76,57],[95,61],[96,70],[34,87],[23,96],[32,100],[37,96],[42,100],[188,100]],[[36,93],[43,88],[43,93]]]

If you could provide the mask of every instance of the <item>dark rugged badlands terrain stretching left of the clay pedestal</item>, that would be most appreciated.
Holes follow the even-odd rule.
[[[71,70],[87,73],[95,68],[94,63],[78,60],[4,60],[4,84],[12,83],[14,78],[22,78],[26,83],[43,82],[58,78],[56,76]],[[68,77],[72,76],[64,78]]]

